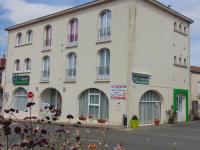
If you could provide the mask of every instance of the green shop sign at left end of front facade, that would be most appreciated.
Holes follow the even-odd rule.
[[[29,76],[13,74],[13,84],[14,85],[29,85]]]

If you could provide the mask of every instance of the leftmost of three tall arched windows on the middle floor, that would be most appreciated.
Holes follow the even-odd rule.
[[[49,56],[45,56],[42,59],[42,80],[48,81],[50,75],[50,58]]]

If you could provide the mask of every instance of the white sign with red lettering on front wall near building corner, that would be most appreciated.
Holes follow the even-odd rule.
[[[115,84],[111,86],[111,99],[126,99],[127,97],[127,85]]]

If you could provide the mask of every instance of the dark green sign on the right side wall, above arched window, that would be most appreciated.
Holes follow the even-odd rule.
[[[132,73],[132,81],[135,84],[146,84],[150,83],[150,75],[141,73]]]

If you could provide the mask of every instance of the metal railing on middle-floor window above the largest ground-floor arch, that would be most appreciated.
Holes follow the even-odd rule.
[[[98,66],[97,67],[97,79],[98,80],[108,80],[110,74],[109,66]]]

